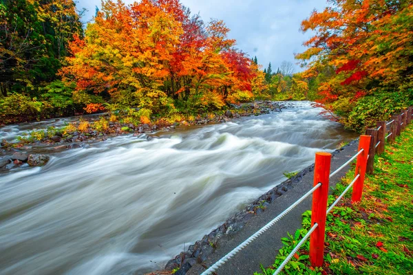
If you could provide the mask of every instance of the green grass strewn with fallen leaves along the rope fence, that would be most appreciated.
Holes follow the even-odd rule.
[[[386,145],[375,157],[374,175],[365,181],[361,203],[352,205],[352,190],[327,216],[324,266],[314,269],[308,260],[309,241],[286,265],[284,274],[413,274],[413,126]],[[350,170],[330,205],[354,177]],[[273,274],[310,228],[311,212],[303,214],[303,229],[283,238],[271,267],[262,273]]]

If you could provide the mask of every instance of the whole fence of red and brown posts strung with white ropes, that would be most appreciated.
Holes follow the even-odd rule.
[[[404,110],[398,115],[392,115],[389,122],[381,121],[377,122],[376,129],[368,129],[366,135],[361,135],[359,140],[359,149],[356,155],[351,157],[348,162],[337,168],[334,172],[330,173],[331,164],[331,154],[330,153],[316,153],[315,154],[315,168],[314,168],[314,187],[306,192],[301,198],[299,198],[290,207],[279,214],[275,219],[267,223],[263,228],[255,232],[246,241],[238,245],[231,252],[226,254],[222,259],[213,264],[207,270],[205,270],[202,275],[213,274],[218,268],[229,259],[231,259],[235,254],[240,252],[249,243],[257,239],[258,236],[266,232],[271,228],[277,221],[282,219],[288,212],[293,210],[299,205],[304,199],[310,197],[313,194],[313,206],[311,215],[311,228],[308,230],[307,234],[299,241],[296,247],[293,249],[281,265],[275,270],[274,274],[279,274],[282,272],[286,264],[293,258],[297,253],[299,248],[310,238],[310,263],[313,267],[321,267],[324,263],[324,240],[326,236],[326,216],[334,208],[337,203],[346,195],[350,188],[353,188],[351,201],[352,203],[357,203],[361,201],[363,195],[363,185],[366,173],[373,173],[374,165],[374,155],[381,154],[385,151],[385,141],[391,144],[396,140],[396,136],[401,134],[401,131],[410,124],[412,121],[412,107]],[[328,202],[328,185],[330,183],[330,178],[340,170],[348,166],[354,159],[357,158],[356,169],[354,179],[347,186],[347,188],[337,197],[334,203],[327,208]]]

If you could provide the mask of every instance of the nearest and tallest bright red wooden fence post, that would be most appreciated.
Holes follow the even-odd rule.
[[[330,180],[330,153],[316,153],[314,167],[314,186],[322,185],[313,194],[311,225],[318,224],[310,236],[310,263],[313,267],[321,267],[324,263],[324,239],[326,238],[326,212],[328,184]]]

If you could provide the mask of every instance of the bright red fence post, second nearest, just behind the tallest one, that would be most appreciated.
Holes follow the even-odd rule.
[[[351,201],[359,202],[361,201],[361,196],[363,195],[364,178],[366,177],[366,166],[367,166],[367,156],[370,148],[370,135],[361,135],[359,141],[359,151],[363,149],[363,152],[357,157],[356,173],[354,177],[360,174],[357,181],[354,182],[353,192]]]

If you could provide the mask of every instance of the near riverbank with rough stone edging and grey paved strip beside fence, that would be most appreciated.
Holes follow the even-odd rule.
[[[339,167],[347,161],[348,155],[357,152],[358,141],[348,142],[345,146],[332,152],[332,168]],[[165,270],[171,274],[200,274],[211,264],[218,261],[220,257],[231,251],[242,243],[248,236],[251,236],[257,229],[271,221],[279,212],[284,210],[286,205],[295,201],[313,184],[314,165],[301,170],[297,175],[287,179],[281,184],[266,192],[259,199],[249,204],[245,210],[235,214],[225,223],[202,238],[202,240],[190,245],[189,249],[180,253],[175,259],[169,261]],[[331,186],[345,175],[341,172],[332,178]],[[281,221],[277,226],[271,228],[265,236],[260,236],[251,245],[244,248],[243,252],[230,259],[223,267],[220,267],[218,274],[252,274],[259,270],[261,263],[272,261],[271,255],[277,247],[282,245],[279,239],[283,234],[292,228],[299,228],[300,211],[310,208],[310,199],[293,210],[289,214],[288,220]],[[298,222],[297,222],[298,221]],[[259,249],[258,249],[259,248]],[[257,250],[258,249],[258,250]],[[153,272],[153,275],[164,274]]]

